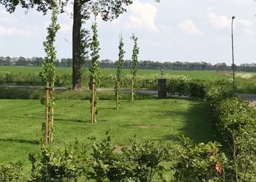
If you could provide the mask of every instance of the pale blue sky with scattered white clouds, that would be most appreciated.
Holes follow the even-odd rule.
[[[72,58],[72,5],[59,15],[57,58]],[[97,18],[100,60],[118,60],[123,35],[125,60],[131,60],[133,33],[138,37],[139,60],[153,62],[256,63],[255,0],[136,0],[113,21]],[[86,21],[90,29],[94,19]],[[0,5],[0,56],[42,57],[50,13],[17,8],[7,13]]]

